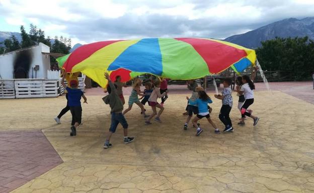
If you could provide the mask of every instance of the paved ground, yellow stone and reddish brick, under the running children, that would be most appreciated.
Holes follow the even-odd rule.
[[[65,106],[64,97],[0,100],[0,192],[314,192],[312,85],[274,85],[278,88],[270,92],[257,84],[252,105],[253,114],[261,117],[257,126],[252,120],[237,125],[241,115],[233,93],[235,131],[218,135],[201,120],[199,137],[191,124],[183,130],[189,91],[176,94],[173,88],[163,123],[144,125],[134,106],[125,117],[135,141],[124,144],[118,126],[109,149],[103,149],[110,109],[102,93],[86,93],[89,104],[83,105],[83,125],[75,137],[69,136],[69,112],[62,124],[53,120]],[[212,120],[223,130],[221,101],[212,99]],[[27,168],[21,160],[36,165],[33,178],[19,171]],[[10,176],[20,179],[4,183]]]

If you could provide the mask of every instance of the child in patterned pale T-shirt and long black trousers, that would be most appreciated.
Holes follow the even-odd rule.
[[[227,131],[233,131],[234,129],[232,128],[232,122],[231,119],[229,117],[229,113],[231,111],[232,108],[232,91],[230,88],[230,85],[232,84],[232,80],[227,78],[223,81],[223,90],[221,95],[214,95],[217,99],[220,99],[222,101],[222,106],[220,109],[220,113],[219,113],[219,119],[221,120],[221,122],[224,124],[225,129],[223,130],[223,132],[227,132]]]

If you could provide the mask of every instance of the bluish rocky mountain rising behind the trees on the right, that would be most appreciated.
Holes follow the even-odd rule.
[[[314,17],[301,20],[290,18],[274,22],[245,34],[230,36],[224,41],[239,44],[247,48],[258,48],[262,41],[279,38],[308,36],[314,40]]]

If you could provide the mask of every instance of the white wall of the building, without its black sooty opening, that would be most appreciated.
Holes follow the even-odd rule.
[[[28,77],[29,78],[47,78],[47,70],[50,70],[50,57],[42,54],[42,52],[49,53],[50,48],[42,43],[28,49],[14,51],[7,54],[0,55],[0,76],[2,79],[14,79],[14,63],[19,52],[29,51],[31,62],[28,64]],[[37,73],[33,68],[39,65]],[[36,76],[35,76],[36,74]]]

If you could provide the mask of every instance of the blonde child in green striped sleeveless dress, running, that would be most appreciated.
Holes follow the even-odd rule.
[[[141,84],[142,84],[142,81],[140,79],[136,79],[134,81],[133,89],[132,89],[131,95],[129,97],[129,108],[125,109],[125,111],[123,112],[123,115],[125,115],[127,112],[129,112],[132,109],[133,103],[135,103],[140,107],[142,114],[144,115],[144,118],[148,117],[148,115],[145,114],[144,106],[138,100],[138,95],[144,96],[144,94],[142,94],[140,92]]]

